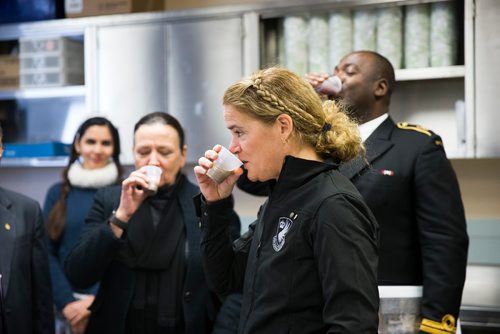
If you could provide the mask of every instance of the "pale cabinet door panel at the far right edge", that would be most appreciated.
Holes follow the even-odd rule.
[[[476,0],[475,92],[476,156],[499,157],[498,92],[500,87],[500,1]]]

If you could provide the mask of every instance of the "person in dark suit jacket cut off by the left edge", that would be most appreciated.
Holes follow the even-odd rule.
[[[0,161],[4,151],[0,124]],[[54,309],[42,209],[0,187],[0,333],[53,334]]]

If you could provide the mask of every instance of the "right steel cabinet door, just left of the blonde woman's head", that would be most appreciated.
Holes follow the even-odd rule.
[[[167,25],[168,112],[186,132],[188,162],[228,145],[222,96],[243,73],[241,17]]]

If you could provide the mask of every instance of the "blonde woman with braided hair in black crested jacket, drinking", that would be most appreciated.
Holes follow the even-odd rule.
[[[229,150],[248,178],[275,180],[232,245],[230,195],[242,169],[222,183],[207,176],[220,145],[194,167],[207,279],[221,296],[243,289],[239,333],[376,333],[378,225],[337,171],[363,150],[356,124],[276,67],[230,86],[223,104]]]

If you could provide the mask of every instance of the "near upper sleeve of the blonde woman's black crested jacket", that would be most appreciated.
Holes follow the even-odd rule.
[[[376,333],[378,224],[370,210],[349,196],[332,196],[321,205],[311,236],[327,333]]]

